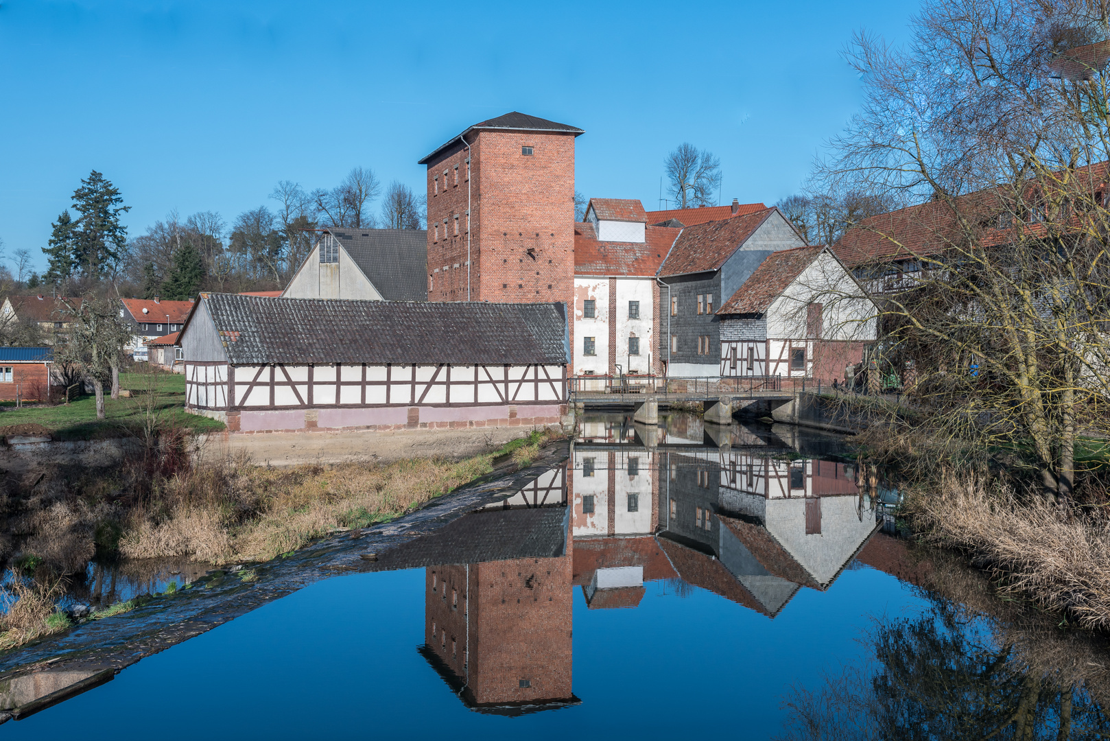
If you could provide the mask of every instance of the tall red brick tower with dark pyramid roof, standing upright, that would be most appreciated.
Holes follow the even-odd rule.
[[[427,166],[428,301],[573,306],[574,140],[581,133],[506,113],[475,123],[420,161]]]

